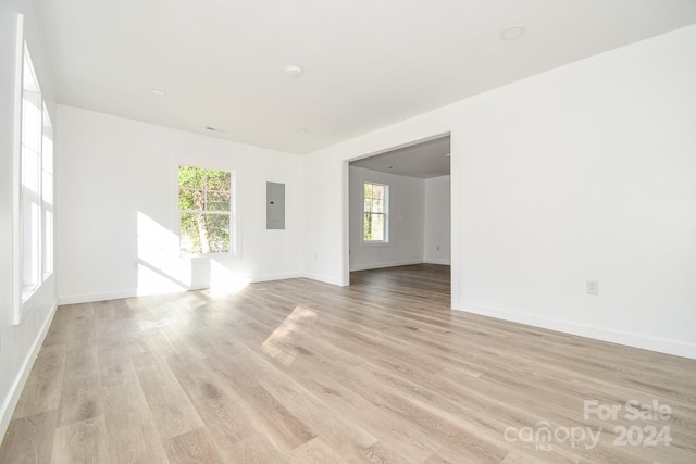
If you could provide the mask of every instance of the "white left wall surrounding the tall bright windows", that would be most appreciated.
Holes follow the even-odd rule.
[[[53,127],[53,88],[30,1],[0,2],[0,437],[4,436],[24,381],[44,341],[55,309],[55,278],[27,300],[20,325],[13,325],[13,150],[15,140],[15,86],[17,13],[24,14],[24,37],[47,103]]]

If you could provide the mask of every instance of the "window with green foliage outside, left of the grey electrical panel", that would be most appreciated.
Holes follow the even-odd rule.
[[[179,250],[183,254],[233,252],[233,174],[178,167]]]

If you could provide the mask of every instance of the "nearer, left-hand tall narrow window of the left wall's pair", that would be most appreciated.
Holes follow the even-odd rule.
[[[22,294],[41,283],[41,91],[29,51],[24,47],[22,74],[22,148],[20,152],[20,248]]]

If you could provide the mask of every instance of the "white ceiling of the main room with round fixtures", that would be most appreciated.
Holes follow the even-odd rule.
[[[294,153],[696,23],[696,0],[35,3],[60,103]]]

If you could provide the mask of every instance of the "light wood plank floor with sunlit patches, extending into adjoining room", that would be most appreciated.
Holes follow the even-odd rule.
[[[351,278],[59,308],[0,462],[696,463],[696,361],[450,311],[446,266]]]

